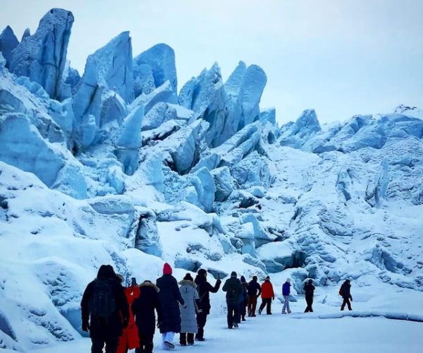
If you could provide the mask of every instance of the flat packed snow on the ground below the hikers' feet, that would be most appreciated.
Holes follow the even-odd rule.
[[[226,317],[211,318],[205,330],[205,342],[181,347],[176,335],[177,352],[309,352],[313,353],[421,353],[421,323],[386,318],[338,318],[297,320],[281,315],[281,304],[274,305],[273,315],[247,318],[240,328],[228,330]],[[395,333],[395,334],[393,334]],[[154,352],[162,352],[160,335],[154,335]],[[89,339],[68,342],[37,353],[90,352]]]

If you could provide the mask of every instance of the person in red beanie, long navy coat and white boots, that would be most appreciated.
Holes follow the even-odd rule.
[[[180,310],[179,304],[185,306],[185,301],[179,292],[178,282],[172,276],[171,265],[165,263],[163,266],[163,276],[157,279],[159,287],[159,305],[161,316],[159,329],[161,333],[163,349],[175,348],[173,337],[175,333],[180,333]]]

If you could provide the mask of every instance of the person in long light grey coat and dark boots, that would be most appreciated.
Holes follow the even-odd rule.
[[[197,311],[197,302],[199,298],[197,285],[189,273],[179,282],[179,291],[185,301],[185,306],[180,307],[180,337],[181,346],[194,345],[194,335],[197,333],[197,320],[195,312]]]

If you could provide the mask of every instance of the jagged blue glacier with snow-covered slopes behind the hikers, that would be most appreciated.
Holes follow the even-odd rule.
[[[177,277],[270,273],[295,295],[313,278],[321,306],[347,277],[372,303],[421,298],[422,109],[278,126],[255,64],[224,81],[216,63],[178,92],[173,49],[133,57],[121,32],[80,75],[72,25],[54,8],[20,42],[0,35],[0,348],[80,337],[103,263],[139,280],[165,261]]]

